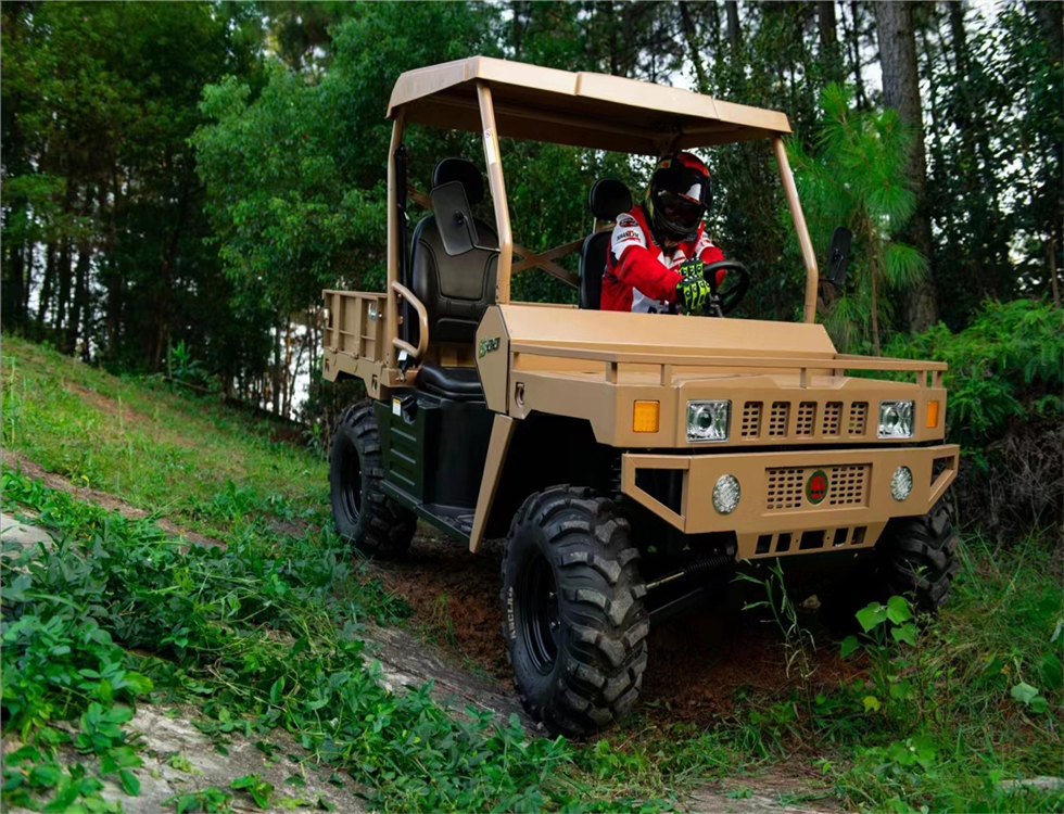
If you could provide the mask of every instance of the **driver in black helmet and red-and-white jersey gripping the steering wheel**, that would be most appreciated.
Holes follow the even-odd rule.
[[[642,204],[613,227],[603,276],[603,310],[699,314],[709,300],[705,265],[724,259],[706,237],[709,169],[691,153],[658,162]],[[717,284],[725,276],[717,272]]]

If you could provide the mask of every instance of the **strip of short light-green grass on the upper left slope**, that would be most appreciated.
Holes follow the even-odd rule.
[[[3,336],[2,434],[74,484],[121,496],[207,535],[238,517],[320,521],[327,467],[269,424],[159,381],[124,380]]]

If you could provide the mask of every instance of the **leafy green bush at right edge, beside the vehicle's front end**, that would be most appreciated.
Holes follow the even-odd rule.
[[[949,365],[947,437],[965,466],[960,517],[998,537],[1031,526],[1060,533],[1064,504],[1064,313],[1048,303],[987,301],[972,323],[896,336],[888,356]]]

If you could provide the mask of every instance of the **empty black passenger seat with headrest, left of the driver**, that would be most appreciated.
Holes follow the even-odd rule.
[[[484,180],[480,170],[464,158],[444,158],[432,171],[432,187],[458,181],[466,190],[470,206],[484,199]],[[478,240],[483,246],[497,246],[498,236],[482,220],[474,219]],[[425,304],[429,317],[429,342],[472,345],[477,327],[489,305],[495,302],[495,276],[498,254],[473,249],[451,256],[434,215],[429,215],[414,230],[410,256],[410,289]],[[408,342],[417,344],[417,322],[408,326]],[[426,392],[459,400],[481,399],[483,389],[476,368],[445,368],[423,363],[417,385]]]

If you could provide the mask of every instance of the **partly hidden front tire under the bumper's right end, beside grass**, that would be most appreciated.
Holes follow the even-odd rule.
[[[934,613],[949,600],[958,537],[949,506],[939,500],[917,518],[891,520],[876,544],[879,550],[878,582],[886,598],[903,596],[917,610]]]

